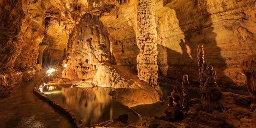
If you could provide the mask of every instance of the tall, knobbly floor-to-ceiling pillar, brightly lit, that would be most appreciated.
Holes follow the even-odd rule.
[[[157,30],[155,0],[137,1],[136,40],[140,49],[137,56],[138,77],[154,87],[160,96],[162,91],[157,83]]]

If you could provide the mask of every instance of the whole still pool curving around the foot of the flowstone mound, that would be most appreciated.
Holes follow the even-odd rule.
[[[131,108],[113,100],[109,95],[112,88],[104,87],[59,87],[46,85],[43,92],[83,120],[83,126],[89,127],[114,119],[120,114],[128,114],[129,122],[138,122],[139,117],[154,118],[165,115],[168,108],[168,96],[171,86],[161,86],[165,102],[138,105]],[[181,89],[179,89],[181,91]],[[180,92],[182,94],[182,92]],[[191,98],[199,98],[198,94],[190,94]]]

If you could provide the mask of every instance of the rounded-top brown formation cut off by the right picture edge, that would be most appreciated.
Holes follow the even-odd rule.
[[[241,63],[242,73],[245,75],[246,87],[252,103],[256,103],[256,55],[248,55]]]

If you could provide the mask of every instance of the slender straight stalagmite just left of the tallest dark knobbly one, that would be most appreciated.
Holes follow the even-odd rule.
[[[189,97],[188,97],[188,76],[183,75],[183,80],[182,80],[182,106],[183,108],[188,108],[188,103],[189,103]]]

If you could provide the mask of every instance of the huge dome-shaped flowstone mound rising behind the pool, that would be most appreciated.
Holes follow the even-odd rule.
[[[105,34],[105,29],[98,17],[89,13],[82,16],[75,35],[70,36],[69,44],[72,44],[73,51],[71,57],[69,55],[67,58],[71,59],[63,70],[64,78],[70,80],[92,78],[100,63],[113,62],[110,42]]]

